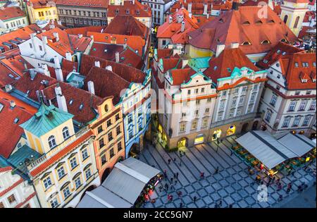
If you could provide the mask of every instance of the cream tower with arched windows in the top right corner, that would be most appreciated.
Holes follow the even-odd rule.
[[[302,23],[308,9],[308,0],[285,0],[280,6],[280,18],[296,36],[302,30]]]

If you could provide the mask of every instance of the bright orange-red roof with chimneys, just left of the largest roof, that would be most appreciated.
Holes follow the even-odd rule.
[[[157,30],[157,38],[169,38],[172,39],[173,44],[185,44],[188,42],[187,33],[197,30],[197,19],[189,18],[188,11],[181,8],[179,11],[173,13],[173,22],[169,23],[169,18],[163,23]],[[184,16],[185,31],[181,32],[181,23],[178,23],[178,16]]]

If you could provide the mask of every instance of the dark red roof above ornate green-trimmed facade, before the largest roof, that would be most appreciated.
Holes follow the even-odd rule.
[[[216,83],[220,78],[230,77],[236,67],[247,67],[254,71],[259,70],[242,52],[242,49],[235,48],[224,49],[218,57],[211,58],[209,68],[204,71],[204,74]]]

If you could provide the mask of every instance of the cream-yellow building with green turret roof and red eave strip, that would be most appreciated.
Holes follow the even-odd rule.
[[[41,207],[76,207],[87,190],[100,185],[94,134],[88,127],[75,132],[73,115],[42,104],[20,126],[30,148],[40,154],[27,171]]]

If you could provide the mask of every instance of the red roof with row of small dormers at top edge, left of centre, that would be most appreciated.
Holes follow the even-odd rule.
[[[108,5],[108,17],[131,15],[134,17],[151,17],[151,8],[139,1],[123,1],[122,6]]]

